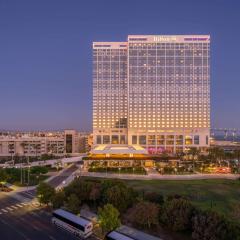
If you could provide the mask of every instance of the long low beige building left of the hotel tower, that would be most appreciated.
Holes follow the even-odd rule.
[[[62,132],[0,133],[0,157],[64,156],[89,151],[87,133],[75,130]]]

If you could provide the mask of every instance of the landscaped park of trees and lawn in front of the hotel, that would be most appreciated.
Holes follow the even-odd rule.
[[[237,240],[239,186],[239,180],[120,181],[82,177],[58,192],[46,183],[40,184],[37,195],[41,203],[74,214],[87,205],[100,217],[102,236],[122,223],[164,239]],[[107,221],[109,217],[111,221]]]

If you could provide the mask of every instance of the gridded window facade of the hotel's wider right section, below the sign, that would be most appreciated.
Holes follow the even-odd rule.
[[[129,41],[128,59],[129,128],[210,127],[208,41]]]

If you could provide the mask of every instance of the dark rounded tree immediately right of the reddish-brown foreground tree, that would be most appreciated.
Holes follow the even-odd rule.
[[[191,228],[193,211],[194,208],[188,200],[173,198],[164,203],[160,219],[174,231],[188,230]]]

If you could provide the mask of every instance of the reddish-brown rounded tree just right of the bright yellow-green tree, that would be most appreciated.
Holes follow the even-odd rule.
[[[141,227],[158,225],[159,206],[151,202],[139,202],[129,210],[130,221]]]

